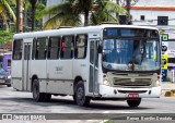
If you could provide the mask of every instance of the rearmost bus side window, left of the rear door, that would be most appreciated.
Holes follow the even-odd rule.
[[[23,50],[23,40],[18,39],[14,40],[13,45],[13,60],[21,60],[22,59],[22,50]]]

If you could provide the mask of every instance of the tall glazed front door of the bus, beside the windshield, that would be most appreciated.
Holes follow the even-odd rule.
[[[90,83],[89,91],[93,93],[93,96],[98,95],[98,53],[97,44],[100,39],[91,39],[90,41]]]

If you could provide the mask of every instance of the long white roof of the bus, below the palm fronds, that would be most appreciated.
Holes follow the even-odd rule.
[[[155,27],[150,27],[150,26],[102,24],[96,26],[83,26],[83,27],[59,28],[59,29],[49,29],[49,30],[40,30],[40,32],[22,33],[22,34],[15,34],[13,38],[23,39],[23,38],[33,38],[33,37],[57,36],[57,35],[96,33],[96,32],[101,32],[105,27],[158,29]]]

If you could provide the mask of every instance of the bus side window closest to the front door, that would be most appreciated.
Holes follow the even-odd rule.
[[[88,35],[78,35],[75,38],[75,54],[77,59],[83,59],[86,57],[86,44]]]

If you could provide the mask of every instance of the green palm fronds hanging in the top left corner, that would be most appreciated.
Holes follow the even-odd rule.
[[[10,7],[10,3],[14,3],[14,0],[1,0],[0,1],[0,19],[3,21],[7,30],[9,29],[8,21],[16,21],[15,14]]]

